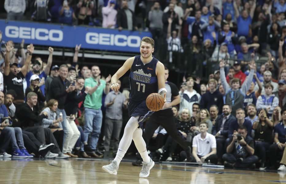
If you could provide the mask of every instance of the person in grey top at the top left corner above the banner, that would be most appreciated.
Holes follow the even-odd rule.
[[[7,12],[7,20],[21,21],[26,10],[26,1],[5,0],[4,8]]]

